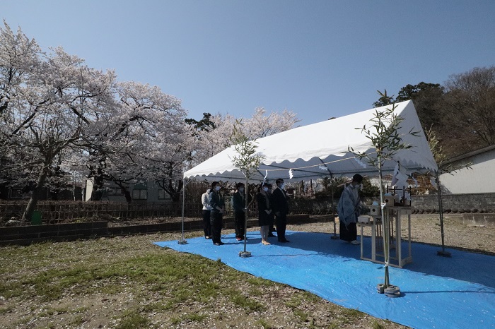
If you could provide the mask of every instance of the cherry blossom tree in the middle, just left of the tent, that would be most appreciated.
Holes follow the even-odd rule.
[[[86,138],[88,167],[96,193],[105,181],[112,181],[131,202],[131,184],[173,180],[177,172],[182,174],[180,168],[190,155],[190,143],[184,142],[192,131],[187,130],[180,100],[160,88],[126,82],[117,83],[115,92],[115,107],[95,122],[98,128],[93,131],[98,133]],[[177,192],[170,181],[164,189],[171,195]]]

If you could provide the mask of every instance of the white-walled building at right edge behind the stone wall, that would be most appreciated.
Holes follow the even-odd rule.
[[[470,168],[440,175],[442,193],[495,193],[495,145],[453,157],[442,165],[462,166],[468,163]]]

